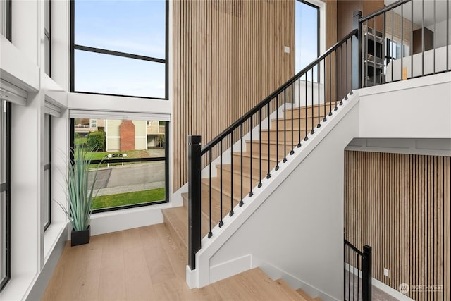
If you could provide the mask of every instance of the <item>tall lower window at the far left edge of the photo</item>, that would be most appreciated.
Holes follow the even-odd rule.
[[[0,100],[0,290],[11,278],[11,103]]]

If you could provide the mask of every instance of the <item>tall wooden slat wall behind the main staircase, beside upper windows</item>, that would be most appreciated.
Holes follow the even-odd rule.
[[[336,42],[336,0],[326,3],[329,47]],[[173,2],[174,191],[187,181],[187,135],[202,135],[204,145],[294,75],[294,5]]]

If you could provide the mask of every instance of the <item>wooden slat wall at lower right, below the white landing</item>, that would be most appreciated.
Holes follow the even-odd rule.
[[[345,238],[371,245],[373,277],[414,300],[451,300],[450,183],[449,156],[345,152]]]

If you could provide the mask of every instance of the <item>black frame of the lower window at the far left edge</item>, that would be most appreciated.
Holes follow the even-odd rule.
[[[0,101],[3,102],[4,100],[1,99]],[[11,111],[11,102],[6,102],[6,182],[0,183],[0,191],[6,191],[6,276],[0,279],[0,292],[5,288],[6,283],[11,280]],[[0,260],[3,260],[3,257]]]

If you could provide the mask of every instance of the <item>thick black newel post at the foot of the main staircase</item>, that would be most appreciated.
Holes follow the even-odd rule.
[[[196,253],[200,250],[200,136],[188,136],[188,264],[196,269]]]

